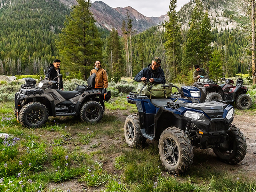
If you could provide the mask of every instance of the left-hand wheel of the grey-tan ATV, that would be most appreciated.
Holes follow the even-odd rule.
[[[44,104],[32,102],[21,108],[19,122],[25,127],[40,127],[47,121],[49,116],[48,109]]]

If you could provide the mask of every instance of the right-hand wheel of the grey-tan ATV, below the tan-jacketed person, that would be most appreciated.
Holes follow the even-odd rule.
[[[80,119],[90,123],[99,122],[103,116],[103,107],[99,102],[89,101],[84,103],[80,111]]]

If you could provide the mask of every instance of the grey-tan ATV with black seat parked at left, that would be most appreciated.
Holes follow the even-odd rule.
[[[59,75],[58,77],[61,77]],[[39,127],[48,116],[80,116],[82,121],[98,122],[104,114],[104,101],[111,97],[110,91],[94,89],[95,74],[88,78],[88,85],[78,85],[75,91],[52,89],[56,81],[36,81],[25,78],[19,92],[15,94],[15,112],[20,124],[27,127]]]

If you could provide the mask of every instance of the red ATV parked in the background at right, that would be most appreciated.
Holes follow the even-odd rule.
[[[248,89],[243,85],[242,78],[237,79],[236,86],[232,85],[234,81],[231,79],[221,79],[225,80],[225,84],[218,85],[214,81],[202,76],[193,85],[203,92],[202,95],[205,101],[224,100],[230,104],[235,102],[238,109],[249,109],[252,106],[252,100],[250,95],[246,94]]]

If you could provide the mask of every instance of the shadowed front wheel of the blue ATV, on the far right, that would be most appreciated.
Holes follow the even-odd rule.
[[[245,137],[235,125],[230,125],[227,134],[225,142],[221,143],[219,147],[213,148],[213,152],[221,161],[237,164],[244,159],[246,154]]]

